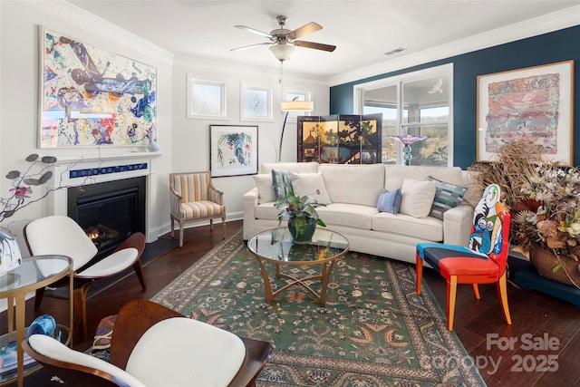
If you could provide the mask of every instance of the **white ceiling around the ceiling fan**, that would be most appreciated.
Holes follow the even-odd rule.
[[[266,37],[234,27],[246,25],[270,33],[275,16],[288,17],[294,30],[309,22],[323,29],[301,40],[333,44],[333,53],[297,47],[285,70],[332,77],[401,59],[441,44],[465,41],[542,15],[574,8],[580,0],[392,1],[392,0],[70,0],[69,3],[137,34],[178,55],[251,66],[277,68]],[[580,24],[580,15],[577,15]],[[404,47],[406,51],[384,53]]]

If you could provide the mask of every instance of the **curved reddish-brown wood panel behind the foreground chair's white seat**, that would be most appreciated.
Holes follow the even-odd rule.
[[[172,317],[185,317],[148,300],[133,300],[123,305],[111,335],[111,363],[123,370],[141,336],[154,324]]]

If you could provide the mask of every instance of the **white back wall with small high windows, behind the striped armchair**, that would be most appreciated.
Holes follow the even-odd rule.
[[[272,61],[275,61],[272,55]],[[198,120],[187,118],[187,77],[226,82],[227,120]],[[177,56],[173,67],[173,148],[172,169],[176,172],[209,170],[209,125],[257,125],[258,163],[275,162],[284,116],[280,109],[280,73],[266,68],[245,68],[207,63],[194,58]],[[247,82],[272,89],[274,121],[241,121],[241,83]],[[329,87],[304,76],[284,73],[284,89],[312,92],[314,115],[328,114]],[[282,160],[296,160],[296,123],[286,123]],[[224,191],[227,218],[242,218],[242,195],[255,187],[252,176],[214,178],[214,185]]]

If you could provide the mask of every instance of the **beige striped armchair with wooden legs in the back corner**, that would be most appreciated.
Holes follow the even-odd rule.
[[[171,237],[175,223],[179,223],[179,247],[183,247],[183,227],[187,221],[221,218],[223,235],[226,237],[226,206],[224,193],[211,184],[209,172],[186,172],[169,174],[171,196]]]

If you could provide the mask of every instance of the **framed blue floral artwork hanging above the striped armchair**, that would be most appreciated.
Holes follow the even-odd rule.
[[[257,126],[210,125],[211,177],[256,175]]]

